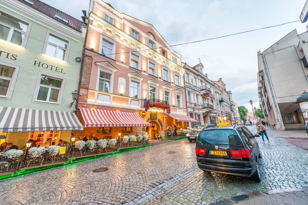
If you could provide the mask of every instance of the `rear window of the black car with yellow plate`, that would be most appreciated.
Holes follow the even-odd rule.
[[[241,145],[235,130],[205,130],[199,134],[199,145]]]

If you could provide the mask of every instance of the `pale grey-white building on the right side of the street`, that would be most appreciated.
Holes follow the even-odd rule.
[[[308,33],[293,30],[258,52],[258,86],[264,119],[278,130],[304,129],[296,97],[308,90]]]

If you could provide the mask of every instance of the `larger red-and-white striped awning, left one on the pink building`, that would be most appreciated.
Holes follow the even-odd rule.
[[[89,127],[147,127],[152,126],[134,112],[117,112],[111,110],[100,110],[80,108],[85,120],[85,128]]]

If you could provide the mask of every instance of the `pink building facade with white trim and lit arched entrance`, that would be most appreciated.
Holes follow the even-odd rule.
[[[178,120],[187,116],[182,56],[151,24],[119,13],[101,0],[91,0],[86,50],[79,108],[138,112],[152,126],[129,130],[147,132],[151,138],[174,125],[188,126],[189,119]],[[170,113],[178,119],[158,108],[144,112],[145,98],[169,103]]]

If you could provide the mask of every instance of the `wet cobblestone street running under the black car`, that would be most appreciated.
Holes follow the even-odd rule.
[[[1,204],[209,204],[268,189],[308,188],[308,151],[283,138],[260,144],[262,182],[204,173],[195,143],[177,140],[0,182]],[[173,151],[172,153],[166,153]],[[93,173],[94,169],[109,170]]]

